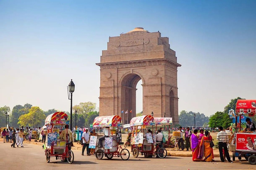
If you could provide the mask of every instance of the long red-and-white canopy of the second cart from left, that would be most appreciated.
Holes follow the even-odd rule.
[[[95,127],[117,127],[122,126],[122,119],[120,116],[98,116],[94,119],[93,128]]]

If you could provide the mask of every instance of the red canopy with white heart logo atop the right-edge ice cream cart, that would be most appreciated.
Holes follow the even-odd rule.
[[[249,116],[255,115],[256,100],[237,100],[236,113],[249,114]]]

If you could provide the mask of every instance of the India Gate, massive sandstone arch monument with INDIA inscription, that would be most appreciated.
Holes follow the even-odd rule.
[[[100,116],[119,115],[123,124],[136,117],[136,85],[142,80],[143,115],[172,117],[178,124],[178,87],[175,51],[169,38],[143,28],[110,37],[100,57]],[[132,110],[132,113],[130,111]]]

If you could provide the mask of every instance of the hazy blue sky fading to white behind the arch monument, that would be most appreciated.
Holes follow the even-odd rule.
[[[125,3],[126,2],[126,3]],[[223,111],[256,99],[256,1],[0,1],[0,107],[99,106],[100,62],[109,36],[135,27],[169,37],[178,63],[179,112]],[[141,83],[140,83],[141,84]],[[137,112],[142,110],[138,83]]]

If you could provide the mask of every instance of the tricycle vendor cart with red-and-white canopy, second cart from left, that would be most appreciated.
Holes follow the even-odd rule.
[[[91,136],[89,148],[95,149],[95,156],[97,159],[102,159],[103,156],[108,159],[113,157],[121,157],[122,160],[128,160],[130,152],[127,149],[123,149],[122,145],[122,133],[119,131],[119,127],[122,127],[122,119],[120,116],[98,116],[93,121],[93,128],[104,128],[108,130],[105,134],[104,140],[102,140],[103,147],[97,146],[99,139],[103,136]],[[100,139],[101,140],[101,139]]]

